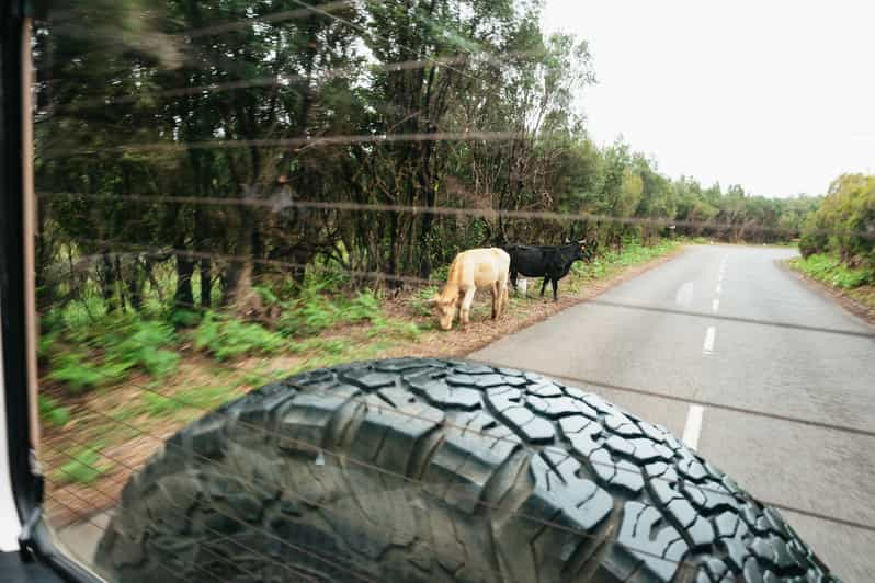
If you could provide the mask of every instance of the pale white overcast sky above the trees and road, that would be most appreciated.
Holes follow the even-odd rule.
[[[580,104],[662,172],[766,196],[875,173],[875,0],[546,0],[590,43]]]

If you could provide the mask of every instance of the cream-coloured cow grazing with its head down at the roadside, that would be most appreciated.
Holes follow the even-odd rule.
[[[456,307],[462,325],[468,323],[470,304],[477,289],[489,288],[492,294],[492,319],[501,316],[508,304],[509,271],[510,255],[501,249],[469,249],[456,255],[450,265],[446,285],[431,300],[441,328],[453,328]]]

